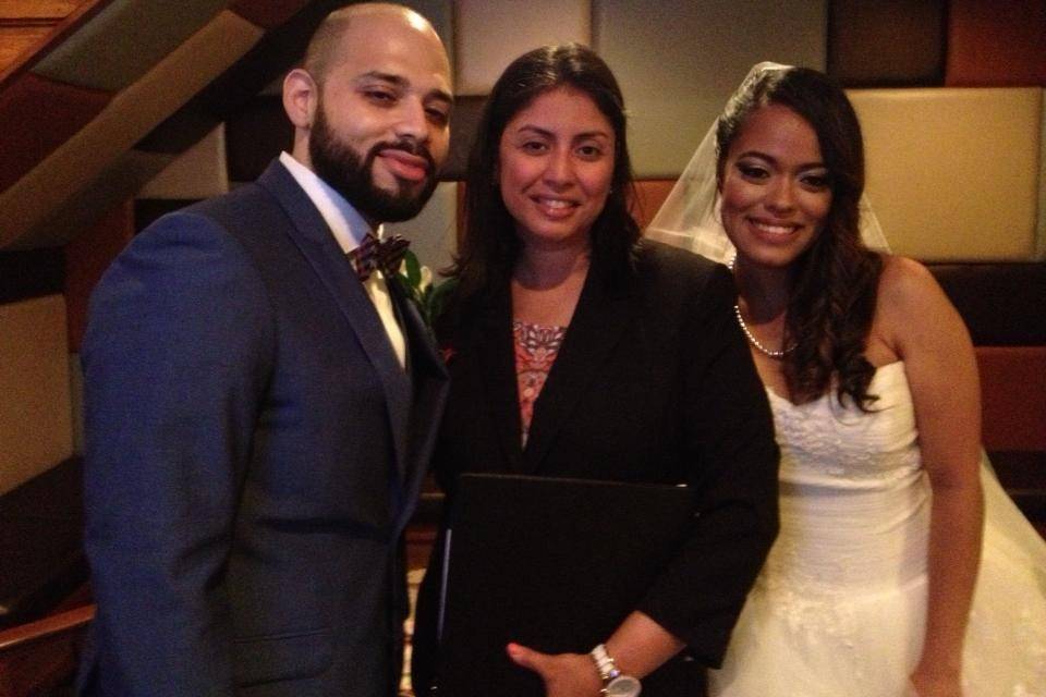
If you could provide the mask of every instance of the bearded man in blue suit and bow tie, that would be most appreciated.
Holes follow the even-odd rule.
[[[447,374],[388,268],[346,253],[431,195],[451,101],[424,17],[331,14],[284,81],[292,151],[100,282],[83,694],[397,693],[402,533]]]

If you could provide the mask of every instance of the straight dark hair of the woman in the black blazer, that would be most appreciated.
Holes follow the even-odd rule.
[[[558,87],[589,97],[613,127],[611,189],[592,225],[592,260],[606,269],[610,283],[631,277],[640,228],[629,213],[633,182],[621,88],[592,49],[580,44],[545,46],[512,61],[487,98],[465,178],[464,233],[450,269],[459,282],[459,301],[507,283],[511,277],[520,241],[498,186],[501,134],[515,114]]]

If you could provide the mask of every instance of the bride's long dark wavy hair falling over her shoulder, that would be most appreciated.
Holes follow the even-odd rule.
[[[868,411],[875,368],[864,357],[883,258],[860,233],[864,192],[864,145],[850,100],[827,75],[794,68],[766,71],[731,98],[716,131],[716,175],[721,186],[730,146],[747,118],[775,103],[802,117],[817,134],[828,169],[831,206],[810,247],[796,259],[784,320],[783,358],[793,399],[807,402],[835,387],[840,404],[849,395]]]

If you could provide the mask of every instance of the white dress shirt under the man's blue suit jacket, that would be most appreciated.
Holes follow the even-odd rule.
[[[364,235],[370,232],[370,225],[363,219],[363,216],[352,207],[345,197],[331,188],[327,182],[319,179],[315,172],[299,162],[290,152],[280,152],[280,162],[291,173],[291,176],[301,185],[305,195],[316,205],[319,215],[323,217],[327,227],[330,228],[335,240],[341,250],[349,254],[360,246]],[[384,229],[378,225],[374,231],[378,240],[384,234]],[[366,289],[370,301],[381,323],[385,325],[385,331],[389,337],[389,343],[392,344],[392,351],[400,362],[400,366],[406,366],[406,340],[403,338],[403,330],[400,323],[396,321],[396,310],[392,307],[392,298],[389,297],[389,289],[385,282],[385,276],[380,270],[375,269],[370,277],[364,281],[363,288]]]

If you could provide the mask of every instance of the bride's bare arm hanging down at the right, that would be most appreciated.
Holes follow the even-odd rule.
[[[962,319],[922,265],[887,258],[879,311],[904,360],[933,490],[926,634],[912,682],[922,697],[960,695],[984,514],[976,360]]]

